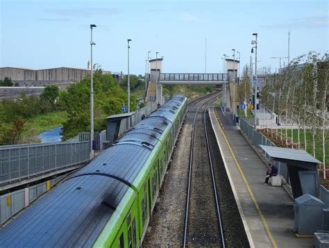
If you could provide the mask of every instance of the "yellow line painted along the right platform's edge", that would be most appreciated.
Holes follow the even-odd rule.
[[[221,129],[221,125],[219,124],[218,118],[216,118],[216,120],[217,120],[217,123],[219,125],[219,129]],[[237,170],[239,170],[239,172],[240,172],[240,174],[242,176],[242,179],[244,180],[244,184],[246,185],[246,188],[247,188],[247,190],[249,192],[249,195],[250,195],[251,199],[253,200],[253,204],[255,204],[255,208],[256,208],[256,210],[258,212],[258,215],[260,215],[260,220],[262,220],[262,224],[264,225],[265,231],[266,231],[267,235],[269,236],[269,240],[271,240],[271,243],[272,243],[273,247],[277,248],[278,245],[276,245],[276,240],[274,240],[274,238],[273,238],[273,235],[271,233],[271,230],[269,229],[269,225],[267,224],[267,221],[265,220],[265,217],[262,214],[262,211],[260,210],[260,206],[258,206],[258,203],[257,203],[257,201],[255,199],[255,196],[253,195],[253,191],[251,190],[251,188],[249,186],[249,183],[246,180],[246,176],[244,176],[244,172],[242,172],[242,169],[241,169],[239,163],[237,162],[237,158],[235,158],[235,155],[234,155],[234,152],[232,150],[232,147],[230,147],[230,143],[228,142],[228,139],[226,138],[226,135],[225,135],[223,129],[221,129],[221,133],[223,134],[223,137],[224,137],[224,139],[226,141],[226,144],[228,145],[228,149],[230,150],[230,154],[232,154],[232,156],[233,156],[233,160],[235,161],[235,165],[237,165]]]

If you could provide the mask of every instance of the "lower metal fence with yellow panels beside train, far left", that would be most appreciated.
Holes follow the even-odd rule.
[[[10,192],[6,195],[0,196],[0,226],[3,225],[12,216],[17,214],[20,210],[26,208],[32,201],[35,201],[44,192],[47,192],[58,181],[62,180],[65,175],[58,176],[56,179],[51,179],[29,188]]]

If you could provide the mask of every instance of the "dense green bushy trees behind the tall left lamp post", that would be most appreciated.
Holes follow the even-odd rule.
[[[110,74],[94,73],[94,131],[106,129],[106,117],[121,113],[122,104],[127,104],[126,90]],[[134,77],[131,77],[134,78]],[[130,110],[136,108],[135,97],[130,96]],[[72,138],[78,132],[90,131],[90,76],[74,83],[66,92],[60,92],[58,106],[67,110],[67,122],[63,124],[63,139]]]

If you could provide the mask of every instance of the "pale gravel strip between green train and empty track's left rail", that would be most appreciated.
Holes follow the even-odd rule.
[[[153,211],[151,232],[146,233],[143,247],[182,245],[192,122],[192,114],[187,113],[160,190],[160,203]]]

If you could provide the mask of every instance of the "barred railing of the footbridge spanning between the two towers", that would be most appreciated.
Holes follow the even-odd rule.
[[[223,73],[160,73],[159,81],[227,81]]]

